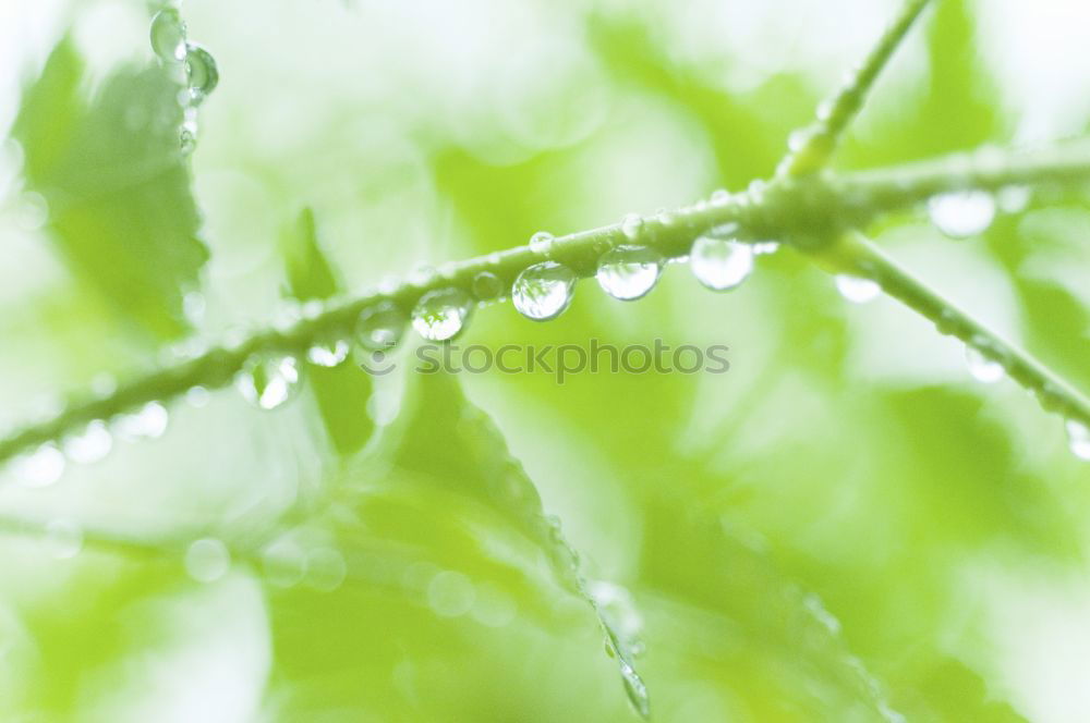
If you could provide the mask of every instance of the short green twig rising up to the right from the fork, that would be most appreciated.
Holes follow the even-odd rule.
[[[791,134],[790,149],[777,169],[777,175],[803,175],[825,164],[845,128],[859,113],[879,73],[889,62],[894,50],[905,39],[928,0],[905,0],[900,14],[879,38],[871,52],[844,84],[818,106],[818,120]]]

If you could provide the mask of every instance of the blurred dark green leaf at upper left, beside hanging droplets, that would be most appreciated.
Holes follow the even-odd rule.
[[[65,39],[25,91],[12,130],[29,189],[73,275],[154,339],[182,335],[182,298],[208,250],[182,157],[179,86],[158,65],[123,68],[87,100]]]

